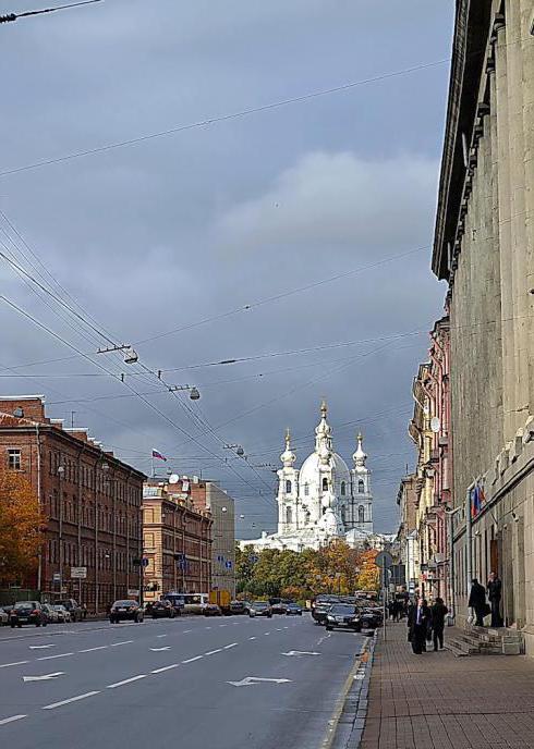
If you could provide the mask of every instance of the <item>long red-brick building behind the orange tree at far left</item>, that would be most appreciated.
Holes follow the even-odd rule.
[[[145,476],[84,429],[64,429],[41,395],[0,396],[0,468],[21,471],[47,517],[38,568],[24,586],[101,612],[139,590]],[[72,568],[86,577],[73,579]]]

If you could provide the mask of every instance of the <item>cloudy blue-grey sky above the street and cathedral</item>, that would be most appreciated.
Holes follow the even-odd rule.
[[[299,466],[324,397],[393,532],[444,308],[453,4],[106,0],[2,25],[0,394],[218,480],[242,538],[275,529],[284,430]],[[139,363],[96,353],[113,343]]]

